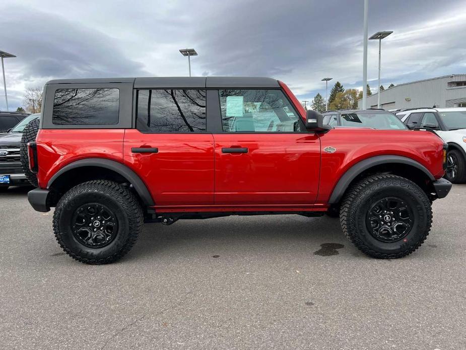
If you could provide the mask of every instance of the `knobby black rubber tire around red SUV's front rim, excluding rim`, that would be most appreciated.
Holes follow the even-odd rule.
[[[367,228],[366,215],[377,199],[391,196],[402,199],[411,208],[413,223],[403,239],[382,242]],[[340,222],[348,240],[366,255],[378,259],[401,258],[418,249],[429,235],[432,208],[425,192],[412,181],[378,174],[362,179],[348,190],[342,201]]]

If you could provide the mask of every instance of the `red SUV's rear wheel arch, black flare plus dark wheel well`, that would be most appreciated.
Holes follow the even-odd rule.
[[[50,178],[47,188],[63,193],[64,190],[79,183],[102,179],[102,177],[120,183],[128,182],[135,189],[144,205],[155,205],[146,184],[135,171],[122,163],[104,158],[81,159],[63,166]]]

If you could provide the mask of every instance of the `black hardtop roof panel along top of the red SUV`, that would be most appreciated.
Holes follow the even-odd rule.
[[[145,88],[279,88],[276,79],[262,77],[147,77],[147,78],[91,78],[55,79],[46,84],[134,84]]]

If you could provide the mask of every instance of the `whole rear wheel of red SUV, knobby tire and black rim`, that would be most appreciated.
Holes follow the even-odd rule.
[[[53,231],[73,259],[87,264],[118,260],[136,243],[143,210],[127,187],[94,180],[73,187],[58,201]]]

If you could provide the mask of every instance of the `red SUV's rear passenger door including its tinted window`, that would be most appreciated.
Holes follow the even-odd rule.
[[[206,89],[139,89],[136,129],[123,159],[156,206],[214,203],[214,139],[206,131]]]

